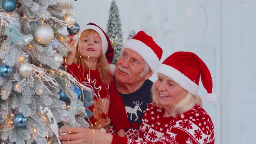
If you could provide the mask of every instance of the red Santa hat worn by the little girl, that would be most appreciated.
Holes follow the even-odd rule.
[[[87,29],[95,30],[98,33],[98,35],[100,36],[100,38],[102,40],[102,53],[106,56],[106,59],[109,64],[109,68],[113,74],[113,72],[115,71],[115,65],[113,65],[111,63],[114,58],[114,49],[111,45],[111,42],[110,42],[107,34],[104,32],[104,30],[102,28],[97,26],[95,23],[88,23],[87,25],[82,27],[82,29],[80,29],[77,39],[75,41],[76,46],[78,44],[80,35]]]

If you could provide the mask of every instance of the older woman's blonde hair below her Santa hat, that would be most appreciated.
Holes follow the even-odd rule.
[[[157,90],[154,88],[154,84],[151,88],[151,92],[153,99],[152,104],[161,108],[161,105],[158,103],[157,100]],[[183,99],[181,99],[181,101],[172,106],[171,116],[175,118],[177,115],[181,115],[184,112],[191,110],[192,108],[194,108],[195,105],[202,106],[202,98],[198,95],[191,95],[189,92],[187,92],[187,95]]]

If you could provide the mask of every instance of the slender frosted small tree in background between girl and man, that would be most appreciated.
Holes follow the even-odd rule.
[[[123,44],[123,32],[121,28],[121,19],[120,14],[118,11],[117,4],[115,0],[112,0],[111,6],[109,8],[109,18],[108,18],[108,25],[107,25],[107,35],[111,40],[112,46],[115,51],[114,59],[112,61],[113,64],[116,63],[120,54],[121,54],[121,47]]]

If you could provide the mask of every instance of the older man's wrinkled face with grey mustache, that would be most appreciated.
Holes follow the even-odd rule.
[[[116,62],[115,79],[118,82],[132,84],[144,80],[144,59],[135,51],[125,48]]]

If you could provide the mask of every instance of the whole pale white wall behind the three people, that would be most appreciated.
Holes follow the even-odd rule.
[[[70,1],[80,26],[92,22],[106,30],[112,0]],[[215,126],[215,144],[256,144],[256,0],[116,2],[124,40],[131,30],[144,30],[164,50],[162,60],[185,50],[206,62],[219,95],[216,103],[204,105]],[[199,93],[206,94],[203,88]]]

